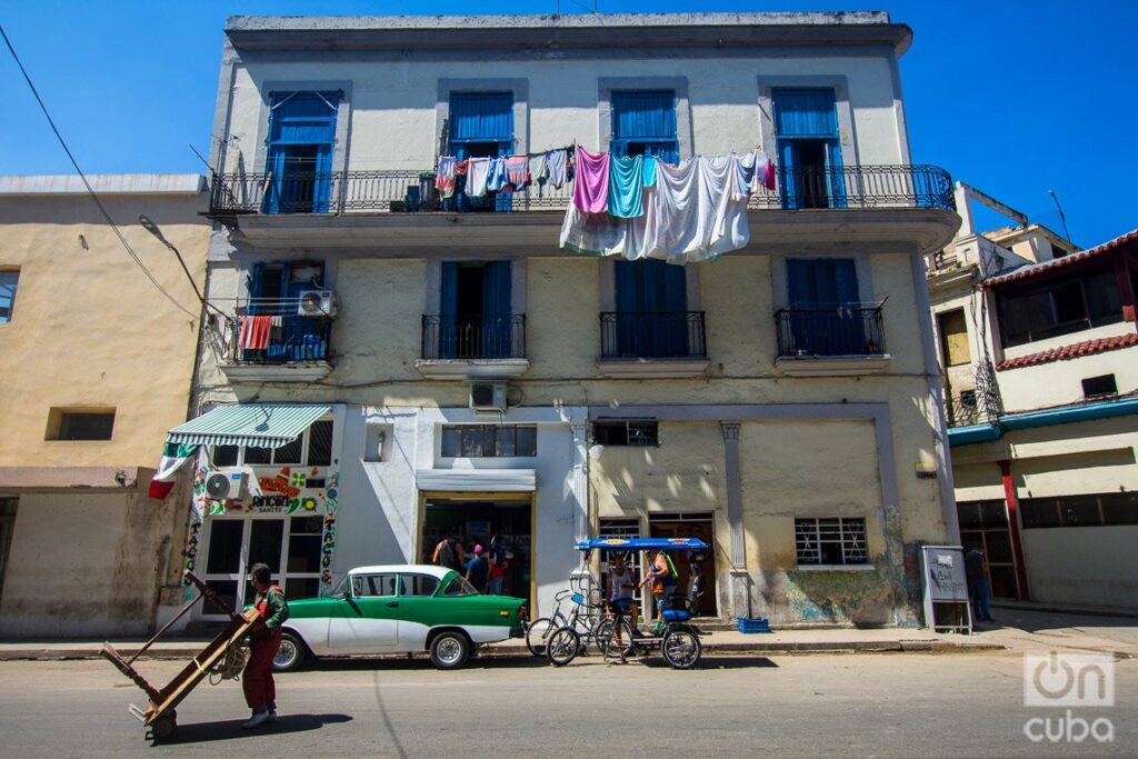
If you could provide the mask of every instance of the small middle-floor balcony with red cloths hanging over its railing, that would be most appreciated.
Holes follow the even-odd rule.
[[[327,377],[335,308],[321,305],[311,298],[254,298],[237,306],[226,324],[222,371],[231,380],[271,382]]]

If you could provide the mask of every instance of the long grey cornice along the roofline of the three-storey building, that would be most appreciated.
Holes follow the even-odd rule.
[[[572,16],[233,16],[239,51],[888,46],[913,31],[880,11]]]

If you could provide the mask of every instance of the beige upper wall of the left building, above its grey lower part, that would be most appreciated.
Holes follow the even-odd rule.
[[[0,324],[0,467],[147,465],[185,420],[200,305],[176,258],[135,221],[145,213],[205,277],[204,196],[104,197],[178,310],[146,279],[85,196],[0,196],[0,266],[18,267]],[[81,240],[85,240],[86,248]],[[113,406],[107,442],[44,440],[52,406]]]

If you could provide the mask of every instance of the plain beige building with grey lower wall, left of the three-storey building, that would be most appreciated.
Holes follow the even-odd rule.
[[[187,416],[205,282],[193,174],[0,176],[0,636],[139,635],[181,575],[185,495],[147,497]],[[179,308],[158,287],[181,304]],[[173,539],[172,539],[173,538]]]

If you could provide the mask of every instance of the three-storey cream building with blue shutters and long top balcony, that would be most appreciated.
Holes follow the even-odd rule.
[[[916,546],[956,541],[923,254],[959,221],[910,165],[910,39],[881,13],[231,18],[232,319],[171,437],[199,446],[187,564],[240,602],[264,560],[299,597],[502,534],[542,613],[575,541],[695,534],[707,614],[916,624]],[[780,189],[686,266],[559,248],[571,184],[435,196],[440,155],[574,146],[759,146]]]

